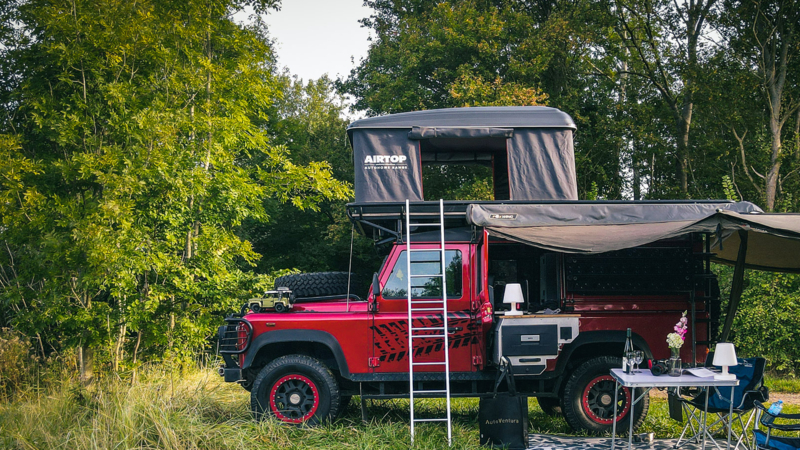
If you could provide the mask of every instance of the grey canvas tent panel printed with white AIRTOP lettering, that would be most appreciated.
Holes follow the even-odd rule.
[[[417,141],[406,130],[355,130],[355,194],[359,202],[420,201],[422,167]]]

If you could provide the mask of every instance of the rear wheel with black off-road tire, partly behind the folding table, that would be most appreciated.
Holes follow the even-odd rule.
[[[580,364],[570,375],[564,387],[564,418],[572,429],[586,430],[591,434],[610,432],[614,414],[614,379],[610,372],[622,367],[622,359],[614,356],[599,356]],[[635,395],[644,392],[636,388]],[[630,424],[630,388],[618,390],[617,432],[626,432]],[[639,428],[647,416],[650,397],[639,400],[633,411],[633,429]]]

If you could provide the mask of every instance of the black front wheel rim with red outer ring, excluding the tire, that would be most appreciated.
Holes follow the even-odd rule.
[[[319,408],[317,385],[303,375],[286,375],[272,385],[269,408],[282,422],[303,423]]]

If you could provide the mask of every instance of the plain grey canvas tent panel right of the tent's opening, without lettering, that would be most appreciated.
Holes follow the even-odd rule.
[[[510,200],[577,200],[570,129],[518,129],[509,140]]]

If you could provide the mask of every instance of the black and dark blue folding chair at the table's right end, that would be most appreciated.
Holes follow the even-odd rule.
[[[711,359],[706,360],[706,365]],[[731,373],[736,374],[739,385],[736,387],[719,387],[705,390],[693,398],[682,398],[683,411],[687,415],[686,425],[683,427],[681,436],[675,447],[680,447],[687,442],[699,443],[703,439],[703,410],[708,397],[708,414],[716,415],[716,420],[709,424],[705,429],[710,430],[714,427],[721,427],[727,435],[728,427],[738,424],[741,433],[731,428],[731,440],[735,440],[733,448],[742,446],[750,450],[750,442],[746,440],[747,429],[754,422],[755,402],[765,402],[769,400],[769,389],[764,386],[764,369],[767,361],[764,358],[739,359],[739,365],[731,367]],[[733,389],[733,414],[730,415],[731,389]],[[712,416],[713,417],[713,416]],[[684,436],[691,430],[691,437],[684,440]],[[721,448],[710,434],[707,435],[717,448]]]

